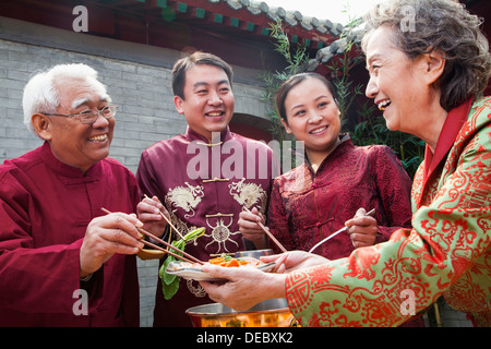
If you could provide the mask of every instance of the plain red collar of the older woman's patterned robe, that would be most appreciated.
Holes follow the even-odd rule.
[[[443,123],[442,131],[440,132],[439,141],[436,142],[436,147],[434,148],[434,154],[427,144],[424,152],[423,188],[439,164],[446,158],[448,151],[452,148],[455,139],[458,135],[458,132],[464,125],[464,122],[467,120],[471,105],[472,98],[469,98],[448,112],[445,122]]]

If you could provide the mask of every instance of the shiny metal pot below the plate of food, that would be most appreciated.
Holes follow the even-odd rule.
[[[219,303],[185,311],[194,327],[297,327],[285,298],[268,299],[242,312]]]

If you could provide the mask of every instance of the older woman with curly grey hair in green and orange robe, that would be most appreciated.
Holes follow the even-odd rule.
[[[479,95],[491,58],[481,21],[451,0],[394,0],[366,23],[367,96],[391,130],[427,143],[412,185],[412,228],[346,258],[274,256],[284,274],[209,268],[230,281],[205,289],[236,309],[286,297],[303,326],[396,326],[443,296],[489,327],[491,98]]]

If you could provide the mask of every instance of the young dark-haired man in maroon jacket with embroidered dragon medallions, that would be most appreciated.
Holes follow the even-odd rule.
[[[212,254],[244,250],[237,224],[239,214],[243,206],[264,214],[272,184],[272,168],[267,176],[260,176],[259,161],[266,157],[267,164],[272,164],[273,152],[228,128],[235,106],[232,76],[230,65],[211,53],[195,52],[175,64],[173,101],[188,129],[148,147],[136,173],[142,194],[152,197],[139,204],[139,218],[145,229],[163,236],[167,225],[159,209],[169,214],[182,234],[205,227],[204,236],[185,246],[187,252],[202,261]],[[240,156],[229,153],[230,144]],[[254,154],[248,148],[254,148]],[[203,163],[205,168],[200,168],[197,178],[189,171],[195,151],[209,159]],[[254,168],[239,171],[242,176],[224,176],[220,169],[230,156],[241,159],[236,166]],[[211,302],[196,281],[181,280],[179,291],[170,300],[164,299],[158,282],[154,325],[191,326],[185,310]]]

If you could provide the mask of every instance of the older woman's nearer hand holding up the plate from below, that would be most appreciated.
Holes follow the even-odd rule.
[[[285,298],[286,274],[264,273],[252,267],[226,268],[215,265],[203,266],[203,272],[214,278],[228,279],[227,282],[200,284],[212,300],[236,311],[248,310],[266,299]]]

